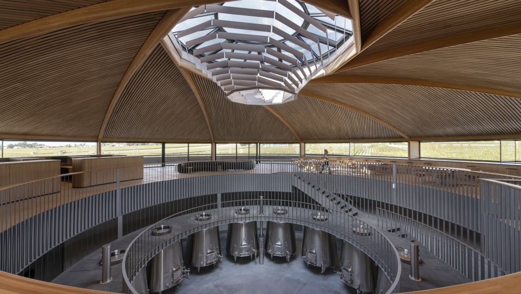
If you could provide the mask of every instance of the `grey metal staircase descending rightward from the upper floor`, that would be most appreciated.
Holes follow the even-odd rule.
[[[311,180],[303,173],[295,173],[293,174],[293,186],[303,191],[325,208],[343,211],[352,216],[358,215],[359,211],[354,208],[353,201],[331,193],[323,187],[325,185],[319,185],[317,182],[319,182],[320,177],[322,175],[317,175],[315,180]]]

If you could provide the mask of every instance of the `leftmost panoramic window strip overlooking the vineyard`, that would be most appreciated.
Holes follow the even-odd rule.
[[[96,154],[95,142],[3,141],[3,157],[52,157]]]

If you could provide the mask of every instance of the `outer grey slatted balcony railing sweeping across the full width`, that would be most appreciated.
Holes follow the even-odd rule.
[[[73,187],[71,181],[77,174],[96,178],[114,173],[117,178],[117,169],[103,169],[0,187],[0,270],[18,274],[66,240],[122,215],[205,195],[210,188],[216,193],[240,191],[235,181],[278,178],[279,183],[270,188],[287,190],[300,185],[307,194],[314,194],[313,184],[296,180],[302,175],[308,183],[327,187],[330,195],[349,200],[365,212],[376,214],[383,208],[421,215],[416,220],[425,216],[431,220],[427,225],[462,241],[505,273],[521,271],[521,199],[519,186],[514,184],[518,177],[378,162],[330,160],[329,165],[331,174],[326,174],[327,168],[319,173],[322,162],[317,160],[263,160],[253,170],[193,173],[179,173],[177,164],[151,164],[144,166],[140,180]],[[210,188],[194,186],[193,177]],[[264,185],[262,181],[254,180],[249,188],[255,190]],[[51,193],[56,189],[49,186],[57,183],[59,191]],[[326,207],[337,209],[331,202]]]

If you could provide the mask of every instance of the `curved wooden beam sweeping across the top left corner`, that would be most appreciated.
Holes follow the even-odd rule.
[[[220,2],[227,1],[230,0],[222,0]],[[7,28],[2,30],[2,34],[0,34],[0,44],[22,37],[53,32],[88,22],[107,21],[147,12],[213,3],[215,3],[215,0],[111,0],[61,12],[60,14],[43,17]]]

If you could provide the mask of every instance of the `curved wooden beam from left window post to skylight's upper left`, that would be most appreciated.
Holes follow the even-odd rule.
[[[185,14],[187,14],[188,11],[190,11],[190,7],[168,10],[166,14],[163,16],[163,18],[157,23],[152,33],[148,35],[145,43],[143,43],[143,46],[141,46],[138,54],[136,54],[136,56],[132,60],[132,63],[130,63],[129,68],[125,72],[125,75],[123,75],[123,78],[119,82],[119,85],[116,88],[116,92],[114,93],[112,100],[110,100],[107,112],[105,113],[105,118],[103,119],[102,125],[100,127],[100,134],[98,135],[98,139],[101,140],[103,138],[110,116],[116,108],[116,104],[118,103],[118,100],[121,97],[123,90],[125,90],[125,87],[130,82],[130,79],[132,78],[134,73],[136,73],[139,70],[139,68],[148,58],[148,56],[152,54],[154,49],[159,44],[159,41],[163,39],[163,37]]]

